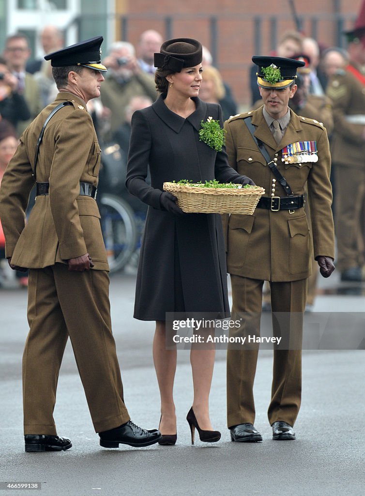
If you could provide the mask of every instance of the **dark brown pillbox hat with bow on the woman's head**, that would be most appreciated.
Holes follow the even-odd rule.
[[[183,67],[194,67],[203,60],[201,43],[192,38],[175,38],[164,41],[160,53],[154,54],[155,67],[180,72]]]

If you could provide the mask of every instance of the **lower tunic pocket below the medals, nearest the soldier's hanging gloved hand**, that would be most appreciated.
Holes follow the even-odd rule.
[[[288,219],[289,241],[289,272],[300,274],[310,269],[310,234],[306,215]]]

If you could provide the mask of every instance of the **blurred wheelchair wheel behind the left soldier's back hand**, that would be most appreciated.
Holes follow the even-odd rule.
[[[101,227],[112,274],[124,267],[136,247],[137,228],[134,212],[118,196],[103,194]]]

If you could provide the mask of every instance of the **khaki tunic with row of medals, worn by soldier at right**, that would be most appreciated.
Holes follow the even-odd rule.
[[[230,274],[266,281],[296,281],[311,272],[314,257],[334,258],[334,228],[331,213],[332,189],[329,181],[330,153],[325,128],[291,111],[291,120],[279,145],[276,144],[262,114],[262,108],[241,114],[226,121],[226,142],[230,165],[239,174],[250,177],[256,185],[265,188],[270,196],[286,197],[264,157],[258,150],[243,118],[252,116],[255,136],[266,146],[272,159],[286,178],[295,196],[308,192],[311,206],[312,237],[305,208],[290,214],[288,210],[272,212],[256,209],[253,215],[232,214],[226,229]],[[284,164],[282,148],[296,141],[316,141],[318,162]],[[227,217],[225,219],[227,226]]]

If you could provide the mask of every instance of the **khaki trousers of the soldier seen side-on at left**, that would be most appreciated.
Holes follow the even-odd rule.
[[[107,431],[129,420],[112,334],[106,271],[70,272],[61,263],[30,269],[28,322],[23,354],[24,434],[57,434],[53,411],[68,336],[95,431]]]

